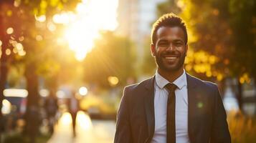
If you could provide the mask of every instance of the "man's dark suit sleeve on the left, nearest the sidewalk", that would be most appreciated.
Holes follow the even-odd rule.
[[[118,109],[114,143],[132,142],[128,102],[128,89],[125,88],[120,102],[120,107]]]

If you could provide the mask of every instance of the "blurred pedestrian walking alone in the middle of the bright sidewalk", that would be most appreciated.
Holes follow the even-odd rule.
[[[69,111],[72,117],[73,137],[76,136],[75,126],[76,126],[78,110],[79,110],[79,102],[78,102],[78,99],[75,97],[75,92],[72,92],[72,96],[70,97],[70,102],[69,102]]]

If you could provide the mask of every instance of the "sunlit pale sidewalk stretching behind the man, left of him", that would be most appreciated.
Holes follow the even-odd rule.
[[[72,137],[72,119],[65,113],[54,127],[47,143],[110,143],[115,134],[114,121],[91,120],[84,112],[77,114],[77,136]]]

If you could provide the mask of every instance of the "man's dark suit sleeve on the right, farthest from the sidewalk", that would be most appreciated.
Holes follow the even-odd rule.
[[[210,142],[231,143],[231,137],[227,125],[227,114],[222,103],[222,98],[219,95],[218,87],[216,85],[214,87],[214,117]]]

